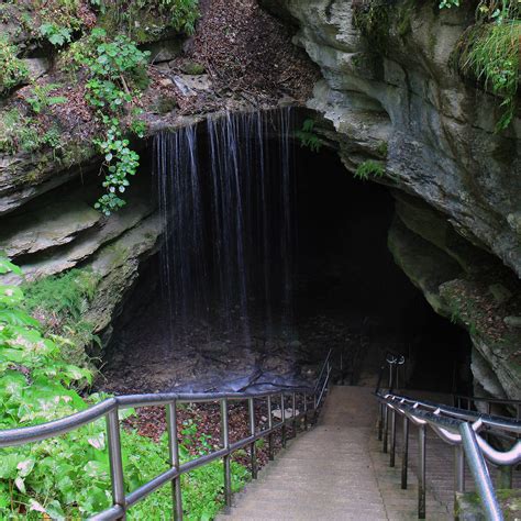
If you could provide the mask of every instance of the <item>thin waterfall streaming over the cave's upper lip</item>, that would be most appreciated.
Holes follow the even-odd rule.
[[[295,171],[291,109],[226,113],[154,141],[173,332],[221,321],[250,337],[291,323]]]

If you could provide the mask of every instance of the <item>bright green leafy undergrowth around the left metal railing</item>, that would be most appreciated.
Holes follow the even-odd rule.
[[[16,266],[0,258],[0,274],[9,271],[21,275]],[[92,295],[91,275],[70,271],[29,286],[26,291],[27,297],[19,287],[0,285],[0,429],[51,421],[104,398],[78,393],[78,388],[91,381],[91,373],[67,362],[69,340],[45,333],[26,311],[45,307],[48,313],[48,307],[57,306],[65,314],[78,313],[82,299]],[[191,443],[188,437],[180,448],[182,462],[190,457],[185,447]],[[122,429],[121,440],[128,492],[168,467],[164,439],[157,444]],[[111,503],[103,420],[56,439],[4,448],[1,456],[0,519],[84,519]],[[247,479],[247,470],[232,463],[232,476],[237,490]],[[212,518],[222,505],[220,462],[196,469],[182,480],[187,519]],[[169,519],[170,502],[171,491],[163,487],[136,505],[129,518]]]

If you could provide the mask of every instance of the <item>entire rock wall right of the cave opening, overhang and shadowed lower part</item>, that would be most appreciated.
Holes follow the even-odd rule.
[[[385,12],[342,0],[263,4],[298,25],[293,42],[319,65],[323,79],[308,107],[323,117],[322,133],[346,168],[387,160],[383,182],[399,189],[389,233],[397,263],[437,312],[469,330],[478,385],[520,398],[513,347],[521,337],[508,318],[516,317],[519,280],[497,257],[521,275],[521,121],[518,113],[496,134],[498,100],[451,66],[473,13],[403,0],[376,8]],[[356,29],[368,14],[370,40]],[[503,277],[511,295],[500,303],[483,280],[494,286]],[[474,296],[475,309],[459,309],[463,295]]]

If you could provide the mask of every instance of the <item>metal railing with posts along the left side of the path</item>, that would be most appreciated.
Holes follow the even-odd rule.
[[[181,500],[181,481],[180,476],[195,468],[198,468],[215,459],[223,459],[223,481],[224,481],[224,501],[226,508],[232,505],[232,479],[231,479],[231,455],[233,452],[250,446],[252,477],[257,477],[257,456],[255,442],[262,437],[268,439],[268,458],[274,458],[274,434],[281,431],[282,447],[287,443],[287,426],[291,424],[293,435],[297,434],[298,421],[303,419],[304,430],[308,430],[310,414],[312,419],[317,418],[319,407],[321,404],[324,392],[328,390],[331,375],[331,350],[322,364],[313,387],[295,387],[291,389],[279,388],[273,391],[245,391],[245,392],[208,392],[208,393],[178,393],[163,392],[149,395],[126,395],[108,398],[100,403],[89,407],[88,409],[75,414],[62,418],[34,426],[24,426],[19,429],[8,429],[0,431],[0,447],[9,447],[34,443],[37,441],[55,437],[70,431],[75,431],[86,424],[92,423],[101,418],[106,418],[107,422],[107,440],[109,447],[110,477],[112,486],[112,507],[91,517],[91,521],[119,520],[125,518],[129,508],[141,501],[154,490],[167,483],[171,483],[174,518],[176,521],[182,520],[182,500]],[[322,381],[323,380],[323,381]],[[321,383],[322,381],[322,383]],[[296,414],[297,395],[302,395],[303,411]],[[279,422],[273,421],[273,399],[279,398],[281,419]],[[286,418],[286,402],[291,399],[292,413],[290,418]],[[268,426],[258,430],[255,422],[255,400],[267,400]],[[310,400],[311,399],[311,400]],[[247,400],[248,402],[248,420],[250,435],[230,442],[229,429],[229,402]],[[179,443],[177,440],[177,404],[178,403],[208,403],[220,402],[221,413],[221,437],[222,447],[203,456],[199,456],[190,462],[180,464]],[[170,459],[170,468],[155,476],[143,486],[125,494],[124,489],[124,468],[122,463],[121,440],[120,440],[120,421],[119,411],[129,408],[166,406],[167,412],[167,431],[168,431],[168,451]]]

